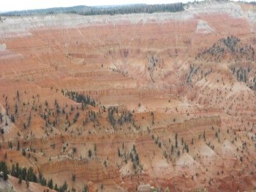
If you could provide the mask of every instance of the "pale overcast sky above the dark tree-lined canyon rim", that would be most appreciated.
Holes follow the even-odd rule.
[[[12,10],[31,10],[38,8],[51,8],[60,6],[76,6],[76,5],[109,5],[109,4],[132,4],[132,3],[183,3],[189,0],[0,0],[0,12]],[[193,0],[190,0],[193,1]],[[200,0],[199,0],[200,1]],[[249,1],[249,0],[246,0]]]

